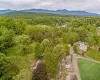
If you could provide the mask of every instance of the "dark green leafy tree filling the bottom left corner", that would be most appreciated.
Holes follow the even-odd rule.
[[[11,63],[4,54],[0,53],[0,78],[1,80],[13,80],[19,69]]]

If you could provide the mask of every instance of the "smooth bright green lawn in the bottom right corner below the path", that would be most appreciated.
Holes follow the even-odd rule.
[[[78,60],[81,80],[100,80],[100,64],[79,59]]]

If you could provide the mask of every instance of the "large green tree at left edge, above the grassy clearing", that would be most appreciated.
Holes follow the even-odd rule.
[[[0,27],[0,51],[4,52],[7,48],[14,45],[13,42],[14,32],[8,30],[6,27]]]

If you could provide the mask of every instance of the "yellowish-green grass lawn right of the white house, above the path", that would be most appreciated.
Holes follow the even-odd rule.
[[[96,49],[89,49],[86,55],[94,60],[100,61],[100,51],[97,51]]]

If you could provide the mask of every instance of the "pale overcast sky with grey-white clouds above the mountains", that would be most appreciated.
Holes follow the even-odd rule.
[[[67,9],[100,13],[100,0],[0,0],[0,10]]]

